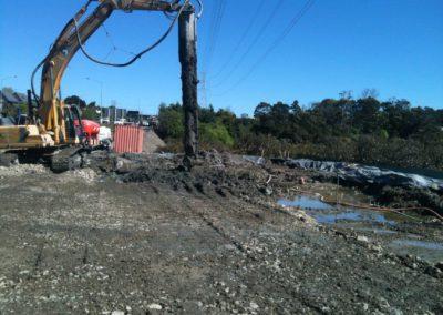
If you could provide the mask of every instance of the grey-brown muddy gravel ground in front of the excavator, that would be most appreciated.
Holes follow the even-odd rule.
[[[0,314],[443,313],[443,263],[278,206],[300,177],[333,190],[216,153],[0,167]]]

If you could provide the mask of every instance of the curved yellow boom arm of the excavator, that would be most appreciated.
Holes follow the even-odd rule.
[[[59,98],[60,84],[68,64],[81,48],[80,43],[85,43],[115,10],[125,12],[133,10],[177,12],[182,8],[179,0],[171,2],[159,0],[99,0],[100,4],[95,10],[84,18],[91,2],[94,1],[87,1],[68,22],[52,45],[50,53],[40,64],[43,68],[38,116],[41,120],[43,132],[53,133],[55,144],[64,143],[66,139],[65,106]],[[83,21],[79,23],[81,19]]]

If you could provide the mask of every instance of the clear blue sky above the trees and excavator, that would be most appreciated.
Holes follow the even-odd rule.
[[[4,87],[29,89],[32,70],[84,2],[0,0]],[[443,109],[442,0],[317,0],[293,28],[288,26],[306,0],[204,3],[198,21],[202,105],[251,114],[261,101],[309,105],[344,90],[358,98],[364,89],[377,89],[383,100]],[[161,37],[168,23],[159,12],[114,12],[86,50],[122,62]],[[177,27],[124,69],[94,64],[79,51],[63,78],[62,95],[100,103],[101,85],[103,105],[116,102],[153,114],[162,102],[179,102]]]

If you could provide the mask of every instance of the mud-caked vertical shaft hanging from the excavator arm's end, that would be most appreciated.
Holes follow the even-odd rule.
[[[183,110],[185,113],[185,154],[195,159],[198,152],[198,103],[197,103],[197,37],[194,8],[184,9],[178,20],[179,61],[182,63]]]

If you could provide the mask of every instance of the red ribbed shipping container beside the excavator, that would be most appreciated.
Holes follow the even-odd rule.
[[[144,130],[134,125],[116,125],[114,151],[116,153],[142,153]]]

